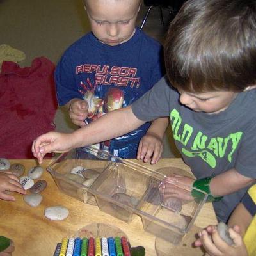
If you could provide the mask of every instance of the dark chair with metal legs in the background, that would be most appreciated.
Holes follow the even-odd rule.
[[[168,10],[170,14],[177,13],[186,0],[144,0],[145,6],[148,6],[148,10],[145,13],[140,29],[143,29],[145,22],[148,19],[148,15],[153,7],[158,8],[161,25],[164,24],[163,9]]]

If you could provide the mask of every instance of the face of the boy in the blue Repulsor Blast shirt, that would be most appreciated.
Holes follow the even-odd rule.
[[[115,46],[135,32],[140,4],[134,0],[87,0],[86,11],[93,35],[102,43]]]

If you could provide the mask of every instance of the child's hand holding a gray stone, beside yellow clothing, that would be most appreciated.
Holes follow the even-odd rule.
[[[200,237],[195,241],[195,246],[204,246],[205,251],[211,256],[247,256],[243,238],[239,234],[239,227],[229,228],[230,237],[234,245],[228,245],[221,239],[215,226],[208,226],[198,234]]]

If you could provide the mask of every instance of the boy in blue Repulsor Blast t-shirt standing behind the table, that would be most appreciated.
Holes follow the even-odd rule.
[[[92,31],[65,51],[55,72],[58,103],[66,106],[72,122],[80,127],[129,106],[164,71],[161,45],[135,27],[140,0],[85,0],[84,4]],[[153,154],[155,163],[167,125],[167,118],[151,126],[147,122],[100,147],[115,156],[136,158],[143,138],[138,156],[147,162]]]

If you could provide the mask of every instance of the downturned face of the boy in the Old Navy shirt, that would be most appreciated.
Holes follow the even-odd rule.
[[[232,100],[236,98],[237,92],[216,91],[205,93],[191,93],[178,90],[180,103],[195,112],[219,113],[225,110]]]

